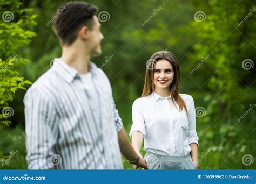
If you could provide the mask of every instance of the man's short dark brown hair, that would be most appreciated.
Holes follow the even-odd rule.
[[[56,12],[54,29],[62,45],[71,45],[83,26],[93,28],[93,16],[98,8],[86,2],[69,2]]]

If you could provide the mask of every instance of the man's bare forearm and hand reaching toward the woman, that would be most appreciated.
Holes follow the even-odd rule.
[[[136,160],[139,155],[134,151],[133,147],[131,146],[124,127],[122,127],[122,129],[118,132],[118,139],[120,150],[124,157],[129,161]],[[137,166],[147,169],[147,164],[142,157],[139,158]]]

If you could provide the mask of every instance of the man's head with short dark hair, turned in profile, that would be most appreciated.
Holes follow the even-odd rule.
[[[95,15],[97,7],[86,2],[69,2],[56,12],[55,34],[62,46],[77,44],[85,47],[91,55],[102,53],[100,23]]]

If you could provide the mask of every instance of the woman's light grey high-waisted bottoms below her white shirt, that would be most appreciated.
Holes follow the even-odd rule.
[[[169,156],[148,151],[144,158],[149,169],[197,169],[190,153],[184,156]]]

